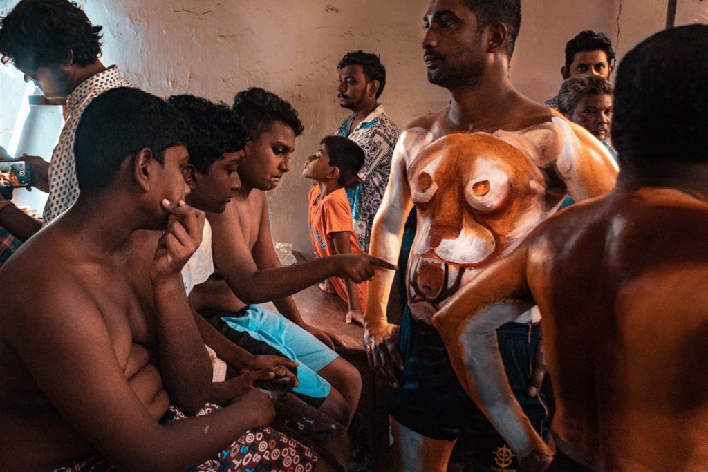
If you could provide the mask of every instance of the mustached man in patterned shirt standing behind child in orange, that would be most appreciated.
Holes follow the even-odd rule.
[[[366,154],[355,182],[346,186],[354,232],[363,251],[369,250],[374,217],[381,205],[391,172],[391,157],[398,141],[396,124],[378,98],[386,85],[386,69],[376,54],[348,52],[339,62],[339,105],[351,115],[337,134],[359,144]]]

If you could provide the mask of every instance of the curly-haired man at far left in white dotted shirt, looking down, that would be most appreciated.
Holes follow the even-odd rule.
[[[45,224],[79,196],[74,134],[81,114],[101,93],[132,86],[117,67],[105,67],[98,59],[101,29],[67,0],[22,0],[0,23],[2,62],[13,62],[25,81],[35,81],[45,96],[67,98],[66,122],[49,167]]]

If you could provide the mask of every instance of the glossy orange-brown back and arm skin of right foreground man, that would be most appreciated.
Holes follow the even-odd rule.
[[[706,202],[629,184],[544,221],[433,318],[458,378],[487,413],[495,408],[464,360],[470,327],[512,316],[484,314],[490,303],[535,301],[556,447],[603,471],[705,470],[707,231]],[[486,367],[503,376],[498,357]],[[523,421],[518,405],[513,415],[490,419]]]

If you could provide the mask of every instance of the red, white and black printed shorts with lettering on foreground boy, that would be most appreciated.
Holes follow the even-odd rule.
[[[209,415],[221,407],[207,403],[197,416]],[[170,406],[161,422],[187,418],[184,413]],[[307,446],[290,439],[278,431],[263,427],[249,430],[232,442],[218,456],[190,469],[193,472],[312,472],[317,456]],[[55,472],[114,472],[118,471],[107,459],[91,456],[74,461]]]

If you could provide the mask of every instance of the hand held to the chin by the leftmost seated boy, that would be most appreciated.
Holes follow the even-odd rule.
[[[202,242],[204,230],[204,212],[182,200],[177,205],[162,200],[162,207],[169,213],[169,218],[150,266],[152,280],[179,274]]]

